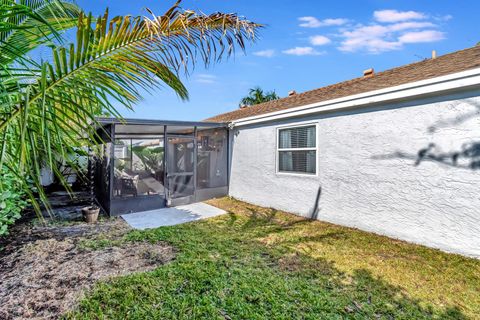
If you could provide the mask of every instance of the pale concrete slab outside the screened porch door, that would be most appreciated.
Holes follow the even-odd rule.
[[[124,214],[122,218],[132,228],[145,230],[216,217],[225,213],[226,211],[222,209],[199,202],[174,208]]]

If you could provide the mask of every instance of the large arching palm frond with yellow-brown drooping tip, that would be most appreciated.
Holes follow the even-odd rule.
[[[113,101],[131,107],[142,98],[139,89],[163,85],[188,99],[180,72],[188,73],[197,60],[218,62],[256,38],[258,24],[235,14],[184,11],[179,3],[151,18],[80,13],[75,44],[54,47],[53,61],[28,70],[27,81],[18,81],[11,69],[0,71],[0,79],[9,79],[0,133],[18,138],[2,141],[0,161],[18,164],[44,197],[40,168],[55,167],[55,159],[68,162],[72,150],[94,140],[97,116],[120,117]]]

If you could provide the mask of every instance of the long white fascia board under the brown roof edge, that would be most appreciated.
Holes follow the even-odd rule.
[[[443,91],[480,85],[480,68],[457,72],[446,76],[410,82],[395,87],[369,91],[338,99],[321,101],[299,107],[233,120],[231,126],[238,127],[277,119],[303,115],[340,111],[366,105],[431,95]]]

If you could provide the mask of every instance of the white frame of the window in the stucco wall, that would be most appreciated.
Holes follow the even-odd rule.
[[[311,127],[315,126],[315,148],[285,148],[280,149],[280,130],[283,129],[292,129],[292,128],[301,128],[301,127]],[[287,176],[302,176],[302,177],[318,177],[318,122],[297,122],[293,124],[283,125],[276,127],[276,146],[275,146],[275,173],[277,175],[287,175]],[[308,172],[288,172],[280,171],[280,151],[315,151],[315,173]]]

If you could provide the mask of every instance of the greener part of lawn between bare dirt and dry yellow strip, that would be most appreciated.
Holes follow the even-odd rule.
[[[154,272],[97,286],[68,317],[467,319],[456,307],[433,307],[412,299],[401,287],[368,270],[345,274],[324,258],[288,246],[266,246],[258,237],[291,228],[297,221],[276,221],[276,210],[249,208],[248,212],[230,212],[215,223],[132,232],[131,241],[173,244],[179,249],[177,259]],[[345,236],[328,232],[292,241],[323,242]]]

